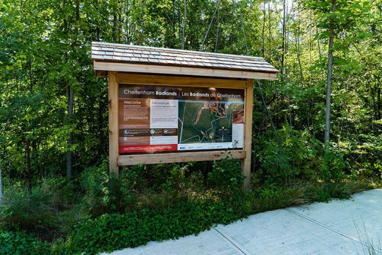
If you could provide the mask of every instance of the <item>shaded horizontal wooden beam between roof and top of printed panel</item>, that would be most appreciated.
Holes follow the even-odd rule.
[[[184,77],[160,74],[130,74],[118,72],[117,81],[119,83],[137,85],[193,86],[228,89],[247,88],[246,79],[214,79],[205,77]]]

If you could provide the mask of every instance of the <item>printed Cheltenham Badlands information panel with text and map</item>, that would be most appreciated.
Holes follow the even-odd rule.
[[[120,85],[119,151],[242,148],[244,91]]]

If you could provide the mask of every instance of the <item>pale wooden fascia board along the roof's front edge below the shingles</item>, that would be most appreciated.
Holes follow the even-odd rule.
[[[150,74],[178,74],[203,77],[227,77],[243,79],[277,79],[276,73],[266,72],[247,72],[224,69],[208,69],[193,67],[174,67],[157,64],[127,64],[118,62],[99,62],[94,61],[94,70],[115,71],[115,72],[137,72]]]

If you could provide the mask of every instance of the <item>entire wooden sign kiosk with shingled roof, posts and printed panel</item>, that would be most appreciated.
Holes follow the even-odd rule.
[[[92,42],[108,77],[110,171],[118,166],[242,160],[249,187],[254,79],[276,79],[262,57]]]

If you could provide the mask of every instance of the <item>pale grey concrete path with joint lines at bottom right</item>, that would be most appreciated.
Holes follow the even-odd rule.
[[[113,254],[382,254],[382,190],[263,212],[196,237],[149,242]]]

